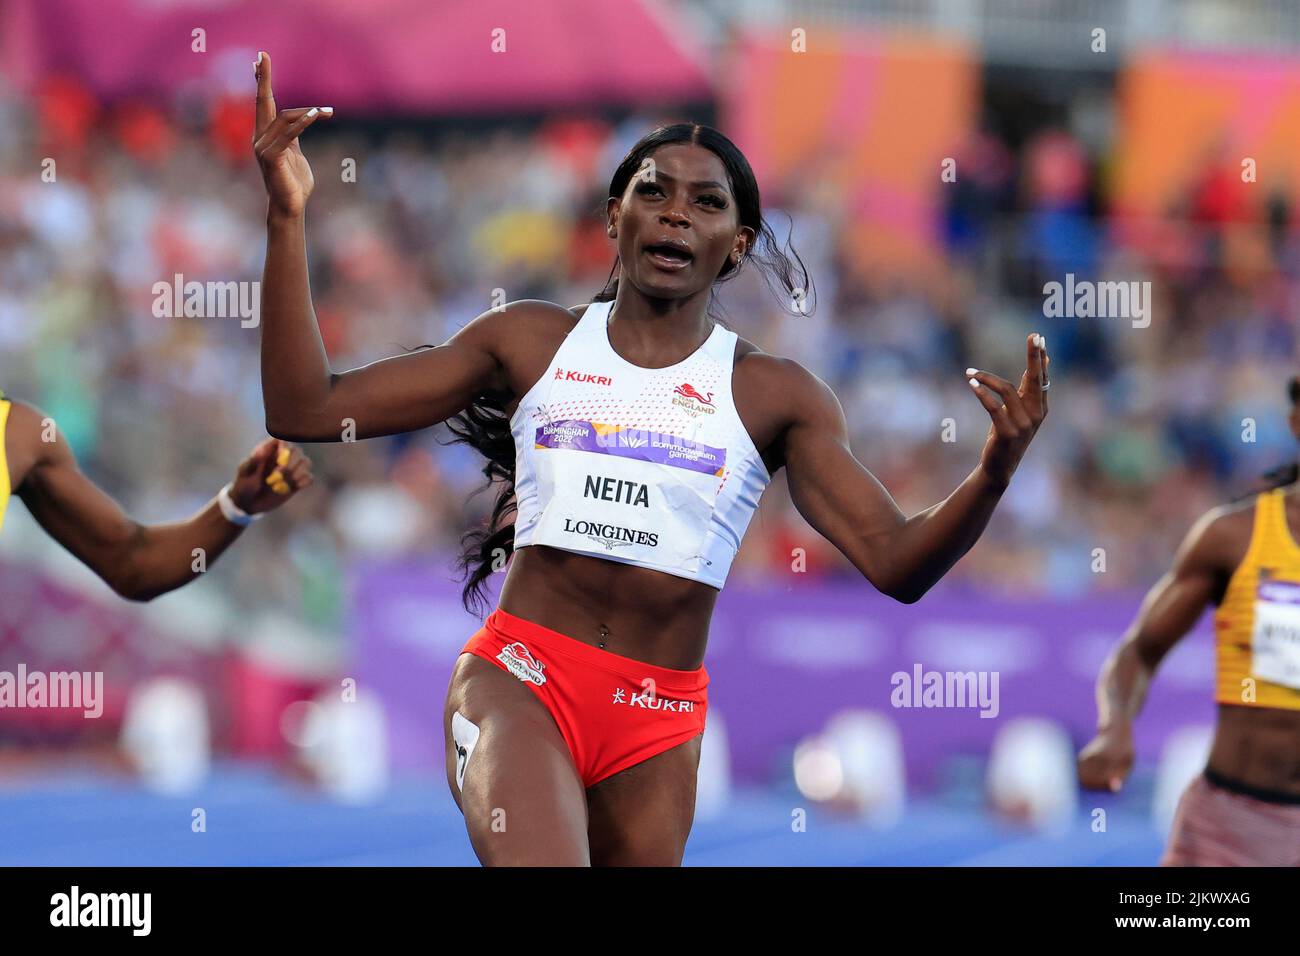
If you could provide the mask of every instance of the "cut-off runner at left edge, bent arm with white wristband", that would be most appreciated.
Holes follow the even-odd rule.
[[[16,494],[51,537],[122,597],[148,601],[191,581],[194,549],[211,566],[263,511],[312,483],[302,450],[266,438],[196,515],[174,524],[133,522],[77,467],[55,424],[0,392],[0,528]]]

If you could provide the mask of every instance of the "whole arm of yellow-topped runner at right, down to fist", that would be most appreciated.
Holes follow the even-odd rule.
[[[1097,676],[1097,735],[1079,752],[1079,783],[1117,791],[1132,769],[1132,724],[1165,654],[1191,631],[1225,585],[1216,509],[1187,532],[1174,567],[1147,593],[1138,617]]]

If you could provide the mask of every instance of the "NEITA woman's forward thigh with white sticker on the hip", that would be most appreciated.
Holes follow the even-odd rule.
[[[468,723],[455,721],[454,732],[456,714]],[[590,864],[586,801],[568,744],[517,678],[462,654],[447,689],[443,734],[447,784],[485,866]]]

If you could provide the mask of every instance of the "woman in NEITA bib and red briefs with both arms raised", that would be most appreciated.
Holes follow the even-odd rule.
[[[1046,414],[1041,338],[1019,389],[971,386],[993,419],[980,464],[906,518],[849,450],[831,390],[714,324],[714,284],[771,250],[758,186],[720,133],[682,124],[614,173],[616,281],[573,310],[514,302],[447,342],[330,371],[312,313],[299,134],[259,57],[255,152],[269,193],[263,395],[272,434],[337,441],[425,428],[489,455],[506,489],[468,592],[514,554],[446,704],[452,796],[485,864],[679,865],[690,831],[718,591],[772,472],[800,512],[904,602],[975,544]],[[653,164],[644,164],[653,160]],[[770,254],[792,294],[790,261]],[[970,377],[970,376],[967,376]],[[504,512],[517,510],[511,527]],[[532,546],[526,546],[532,545]]]

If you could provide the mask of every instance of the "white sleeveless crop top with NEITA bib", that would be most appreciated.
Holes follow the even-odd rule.
[[[550,545],[722,588],[771,476],[732,402],[736,333],[667,368],[614,351],[588,306],[511,416],[515,548]]]

